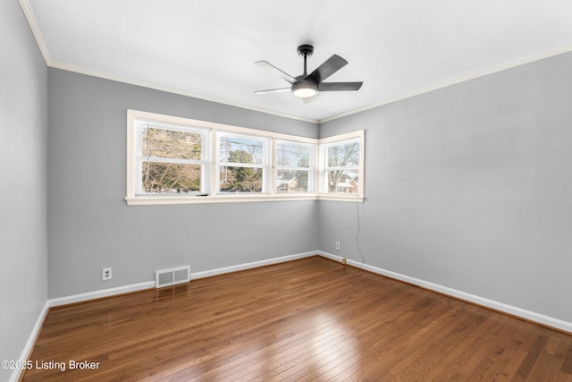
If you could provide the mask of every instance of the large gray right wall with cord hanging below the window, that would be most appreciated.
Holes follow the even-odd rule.
[[[319,248],[572,322],[571,84],[568,53],[324,123],[366,129],[366,201]]]

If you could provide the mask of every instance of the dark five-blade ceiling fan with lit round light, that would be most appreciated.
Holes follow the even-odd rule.
[[[311,98],[320,91],[348,91],[359,90],[363,82],[323,82],[333,73],[338,72],[348,62],[339,55],[332,55],[324,64],[318,66],[314,72],[307,73],[307,57],[314,53],[314,47],[311,45],[301,45],[298,47],[298,54],[304,57],[304,73],[298,77],[292,77],[286,72],[278,69],[267,61],[257,61],[256,64],[261,68],[273,72],[284,81],[290,82],[290,88],[258,90],[255,94],[277,93],[290,90],[294,96],[299,98]]]

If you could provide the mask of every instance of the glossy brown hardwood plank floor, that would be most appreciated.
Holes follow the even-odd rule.
[[[572,335],[314,257],[50,310],[31,361],[24,381],[572,381]]]

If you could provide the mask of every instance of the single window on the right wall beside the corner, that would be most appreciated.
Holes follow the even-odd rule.
[[[363,132],[322,140],[320,193],[363,198]]]

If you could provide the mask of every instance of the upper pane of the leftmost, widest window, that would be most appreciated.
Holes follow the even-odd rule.
[[[201,159],[202,137],[198,132],[143,128],[141,155],[174,159]]]

